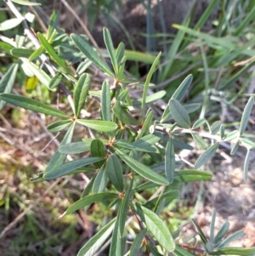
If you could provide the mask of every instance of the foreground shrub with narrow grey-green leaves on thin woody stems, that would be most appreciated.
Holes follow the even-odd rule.
[[[48,162],[48,167],[31,181],[42,182],[65,175],[88,174],[90,182],[82,191],[81,198],[60,217],[88,208],[94,202],[102,202],[116,211],[116,217],[102,227],[80,249],[78,255],[94,255],[109,237],[109,255],[137,255],[139,251],[148,255],[193,255],[178,243],[178,235],[169,230],[161,219],[161,213],[170,202],[178,198],[179,191],[176,185],[212,178],[212,174],[202,168],[222,142],[228,142],[232,146],[231,154],[235,153],[239,145],[246,147],[244,179],[247,178],[249,154],[255,146],[245,133],[254,103],[253,96],[247,101],[242,113],[240,128],[226,132],[224,123],[210,124],[204,117],[190,120],[189,114],[199,110],[201,105],[182,103],[193,79],[192,75],[189,75],[173,92],[161,117],[156,118],[149,107],[150,103],[160,100],[164,95],[157,93],[147,96],[147,93],[161,54],[156,56],[150,66],[145,82],[131,81],[125,74],[125,46],[120,43],[117,49],[113,48],[107,28],[104,29],[104,38],[111,65],[101,59],[102,53],[95,51],[84,35],[68,36],[65,31],[57,30],[58,13],[51,16],[46,35],[40,32],[35,35],[26,21],[31,15],[22,16],[13,2],[36,4],[20,0],[5,1],[16,18],[4,21],[0,26],[1,30],[12,29],[22,23],[28,40],[19,36],[15,41],[2,35],[0,37],[3,41],[1,47],[13,62],[0,82],[1,108],[9,103],[48,116],[59,117],[59,121],[48,125],[48,131],[65,134],[59,149]],[[73,74],[71,66],[77,63],[79,65]],[[93,75],[89,68],[92,66],[105,76],[100,90],[90,90]],[[32,86],[38,80],[43,87],[52,92],[61,90],[69,101],[73,113],[60,111],[28,96],[10,94],[14,77],[18,76],[20,68],[26,76],[31,77]],[[62,81],[71,84],[72,94]],[[130,94],[134,82],[143,89],[139,100],[133,99],[133,95]],[[81,111],[88,97],[99,101],[100,118],[82,118]],[[89,138],[73,142],[77,126],[84,127],[84,134],[88,132]],[[182,134],[186,134],[187,138],[192,137],[197,145],[205,148],[195,164],[190,164],[192,168],[185,168],[183,159],[176,157],[179,150],[193,149],[188,140],[182,140]],[[87,151],[90,152],[89,157],[77,157],[65,162],[68,154],[75,155]],[[150,199],[141,200],[140,194],[150,195],[151,189],[156,189],[159,193],[150,196]],[[215,218],[216,213],[213,212],[209,238],[193,219],[201,242],[205,246],[204,253],[255,253],[255,248],[226,247],[229,242],[241,236],[242,231],[237,231],[224,239],[229,229],[229,224],[225,223],[214,236]],[[131,246],[128,246],[127,227],[131,221],[135,221],[138,228],[135,229]]]

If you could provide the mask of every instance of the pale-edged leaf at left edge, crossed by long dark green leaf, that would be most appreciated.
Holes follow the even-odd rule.
[[[18,64],[13,64],[8,68],[8,71],[4,74],[0,81],[0,93],[9,94],[13,87],[14,87],[14,81],[16,78],[16,74],[18,71]],[[0,94],[0,97],[1,97]],[[0,98],[1,99],[1,98]],[[0,100],[0,110],[3,110],[3,107],[6,105],[6,101]]]

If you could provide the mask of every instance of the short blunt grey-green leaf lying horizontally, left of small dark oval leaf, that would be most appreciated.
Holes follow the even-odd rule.
[[[80,154],[90,150],[90,145],[93,139],[87,139],[86,141],[73,142],[59,146],[59,152],[65,154]]]

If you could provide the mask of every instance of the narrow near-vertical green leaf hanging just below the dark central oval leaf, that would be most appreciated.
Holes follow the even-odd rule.
[[[128,208],[128,203],[129,203],[129,200],[130,200],[130,195],[131,195],[132,188],[133,188],[133,179],[131,180],[131,183],[127,187],[127,190],[125,192],[125,196],[122,199],[121,207],[118,211],[119,234],[120,234],[121,237],[123,237],[124,230],[125,230],[125,224],[126,224],[126,219],[127,219],[127,208]]]

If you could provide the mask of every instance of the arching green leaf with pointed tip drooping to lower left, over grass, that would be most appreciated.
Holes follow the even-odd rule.
[[[82,197],[80,200],[73,203],[71,207],[65,211],[65,213],[59,216],[59,218],[62,218],[65,215],[74,213],[77,210],[84,208],[88,205],[91,205],[94,202],[101,202],[105,197],[107,197],[107,199],[112,199],[112,198],[117,198],[117,195],[115,193],[103,192],[103,193]]]

